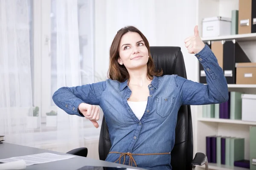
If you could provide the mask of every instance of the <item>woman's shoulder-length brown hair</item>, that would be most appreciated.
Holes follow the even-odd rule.
[[[163,71],[156,70],[154,61],[150,54],[150,47],[148,40],[146,37],[142,34],[140,30],[135,28],[134,26],[127,26],[124,28],[121,28],[119,31],[117,31],[116,36],[113,39],[113,42],[110,47],[110,61],[109,61],[109,69],[108,69],[108,77],[113,80],[117,80],[119,82],[124,82],[126,79],[129,79],[129,74],[127,69],[124,65],[119,65],[118,58],[119,58],[119,44],[122,36],[126,34],[127,32],[137,32],[142,37],[143,41],[145,42],[145,46],[148,48],[148,77],[150,79],[153,79],[153,76],[161,76],[163,74]]]

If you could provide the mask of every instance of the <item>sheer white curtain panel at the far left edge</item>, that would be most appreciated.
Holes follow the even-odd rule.
[[[28,12],[27,1],[0,1],[0,134],[19,144],[33,132]]]

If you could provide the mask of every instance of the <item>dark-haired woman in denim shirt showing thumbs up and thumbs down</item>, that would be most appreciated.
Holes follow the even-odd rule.
[[[135,27],[120,29],[110,48],[109,79],[55,92],[55,104],[71,115],[84,116],[95,127],[99,105],[111,139],[106,161],[150,170],[171,170],[171,151],[180,105],[206,105],[228,100],[227,81],[215,55],[195,35],[185,40],[190,54],[204,66],[207,85],[177,75],[161,76],[148,40]]]

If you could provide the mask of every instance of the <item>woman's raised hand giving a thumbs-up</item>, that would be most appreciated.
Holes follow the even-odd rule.
[[[187,37],[185,40],[185,47],[190,54],[197,54],[204,48],[204,42],[199,37],[198,26],[194,28],[194,35]]]

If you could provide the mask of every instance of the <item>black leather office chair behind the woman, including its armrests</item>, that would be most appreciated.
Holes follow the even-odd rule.
[[[186,78],[186,68],[180,47],[150,47],[151,56],[157,69],[163,69],[163,75],[177,74]],[[108,126],[105,118],[99,136],[99,159],[105,160],[111,148]],[[87,148],[78,148],[68,153],[79,156],[87,156]],[[193,131],[190,105],[182,105],[178,112],[175,130],[175,146],[171,153],[172,170],[192,170],[195,166],[205,164],[208,170],[207,156],[204,153],[196,153],[193,159]]]

